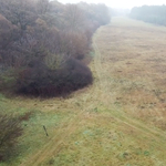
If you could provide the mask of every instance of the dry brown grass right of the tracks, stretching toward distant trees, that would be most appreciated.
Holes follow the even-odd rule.
[[[111,79],[107,92],[127,114],[165,129],[166,29],[131,20],[120,23],[116,19],[98,37],[107,70],[102,75]]]

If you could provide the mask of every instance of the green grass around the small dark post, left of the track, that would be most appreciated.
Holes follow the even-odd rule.
[[[20,101],[21,100],[21,101]],[[72,112],[43,112],[42,108],[35,106],[35,103],[40,104],[40,101],[33,101],[19,97],[19,98],[7,98],[4,95],[0,94],[0,111],[4,114],[14,114],[15,116],[23,115],[28,112],[32,112],[29,121],[23,121],[23,136],[19,141],[18,151],[19,155],[11,158],[7,164],[3,165],[15,165],[20,164],[24,157],[30,154],[37,153],[38,149],[42,148],[44,144],[50,141],[53,135],[54,129],[59,128],[62,123],[68,121],[73,116]],[[29,105],[30,104],[30,105]],[[32,105],[31,105],[32,104]],[[46,127],[49,137],[46,137],[43,129],[43,125]]]

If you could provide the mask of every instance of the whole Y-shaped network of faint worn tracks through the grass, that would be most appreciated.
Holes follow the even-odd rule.
[[[95,50],[95,56],[93,60],[94,69],[95,69],[94,72],[97,75],[94,92],[89,93],[86,95],[86,98],[82,103],[81,107],[77,107],[77,110],[80,111],[76,112],[75,116],[68,118],[56,131],[55,135],[49,138],[48,144],[45,144],[35,155],[30,156],[25,162],[21,164],[21,166],[42,165],[46,159],[51,158],[52,156],[56,156],[61,152],[63,144],[65,144],[68,138],[80,127],[80,124],[84,118],[84,115],[87,113],[89,107],[91,107],[92,103],[87,102],[89,97],[95,97],[95,100],[97,98],[98,103],[103,102],[102,100],[107,100],[108,97],[112,97],[112,94],[110,94],[110,92],[107,91],[107,86],[110,84],[108,80],[107,81],[104,80],[103,82],[102,79],[103,72],[105,71],[103,71],[104,64],[102,64],[102,55],[101,55],[101,50],[98,48],[98,43],[96,41],[96,35],[94,37],[93,40],[93,46]],[[148,138],[154,138],[156,141],[154,143],[156,146],[159,146],[162,149],[166,149],[165,132],[162,133],[160,129],[152,128],[151,126],[147,126],[146,124],[137,120],[133,120],[132,117],[127,116],[127,114],[124,113],[123,111],[117,111],[117,107],[113,104],[108,104],[108,102],[110,101],[105,101],[106,103],[106,105],[104,105],[105,110],[107,110],[110,112],[110,115],[113,118],[115,118],[121,125],[126,125],[135,131],[141,132],[142,135],[145,135]],[[142,141],[144,141],[144,138]]]

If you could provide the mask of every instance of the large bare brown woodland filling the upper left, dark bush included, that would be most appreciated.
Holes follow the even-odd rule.
[[[105,4],[0,0],[0,90],[58,96],[91,84],[81,61],[108,22]]]

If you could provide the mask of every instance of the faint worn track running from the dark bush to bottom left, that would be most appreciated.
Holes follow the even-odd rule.
[[[85,96],[81,106],[77,106],[79,112],[76,112],[75,117],[68,118],[63,125],[56,131],[54,136],[49,139],[48,144],[43,145],[43,147],[35,154],[30,156],[28,160],[23,162],[20,166],[39,166],[43,164],[48,158],[56,156],[68,137],[72,133],[76,131],[79,124],[83,120],[83,115],[86,114],[86,110],[89,110],[89,105],[86,105],[86,100],[93,95],[93,93],[89,93]]]

